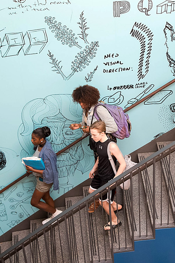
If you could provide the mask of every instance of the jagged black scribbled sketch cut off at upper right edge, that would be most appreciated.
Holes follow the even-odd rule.
[[[163,30],[166,38],[165,45],[167,46],[167,60],[169,62],[169,67],[173,68],[173,76],[175,76],[175,33],[174,28],[168,22]]]

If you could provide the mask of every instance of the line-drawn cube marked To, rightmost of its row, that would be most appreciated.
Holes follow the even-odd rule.
[[[48,42],[46,29],[28,30],[24,35],[24,55],[39,54]]]

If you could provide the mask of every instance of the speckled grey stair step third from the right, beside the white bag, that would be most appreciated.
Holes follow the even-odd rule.
[[[140,180],[140,188],[139,188]],[[138,174],[135,175],[132,179],[133,182],[133,212],[134,212],[134,240],[153,238],[153,232],[151,228],[150,218],[147,211],[147,220],[146,220],[146,199],[144,195],[143,184]],[[139,192],[140,192],[140,213],[139,213]],[[125,190],[125,206],[127,219],[129,224],[129,232],[132,236],[131,226],[131,192],[130,188]],[[140,220],[139,220],[140,214]]]

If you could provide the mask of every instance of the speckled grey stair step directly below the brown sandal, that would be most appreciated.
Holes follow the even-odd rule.
[[[83,187],[83,197],[86,197],[88,193],[89,186]],[[104,225],[107,223],[106,220],[106,212],[103,211],[104,214]],[[108,236],[108,231],[103,232],[103,220],[102,220],[102,207],[99,206],[96,210],[96,222],[95,223],[95,213],[88,213],[85,210],[85,221],[86,221],[86,226],[88,229],[88,217],[90,220],[90,235],[91,235],[91,240],[92,240],[92,255],[93,255],[93,260],[94,262],[98,262],[99,260],[99,255],[100,255],[100,260],[105,259],[105,250],[104,250],[104,242],[106,245],[106,258],[110,261],[111,260],[111,248],[110,248],[110,243],[109,243],[109,236]],[[97,229],[96,229],[97,227]],[[89,230],[87,231],[88,235],[88,250],[90,253],[90,238],[89,238]],[[97,234],[98,234],[98,239],[97,239]],[[105,236],[104,236],[105,234]],[[104,241],[105,240],[105,241]],[[99,248],[99,250],[98,250]],[[99,255],[98,255],[99,254]],[[90,257],[91,258],[91,257]]]

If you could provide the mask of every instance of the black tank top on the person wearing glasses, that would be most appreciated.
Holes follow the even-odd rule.
[[[107,153],[108,144],[110,142],[110,139],[107,139],[104,143],[101,143],[100,141],[97,142],[97,154],[99,156],[98,175],[101,179],[106,181],[111,180],[115,176]],[[115,156],[112,155],[112,158],[116,165],[117,160]]]

